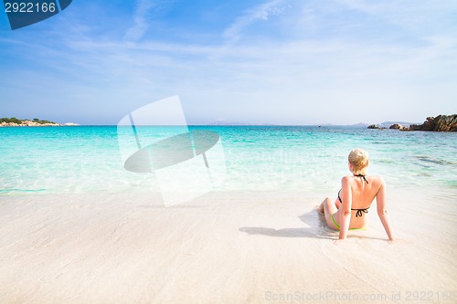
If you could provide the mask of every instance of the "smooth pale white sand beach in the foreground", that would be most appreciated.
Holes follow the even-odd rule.
[[[0,302],[455,303],[455,202],[389,197],[393,243],[374,208],[335,242],[301,193],[4,195]]]

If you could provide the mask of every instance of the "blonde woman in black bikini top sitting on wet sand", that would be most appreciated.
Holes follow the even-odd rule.
[[[327,225],[339,230],[339,239],[345,239],[349,229],[365,229],[367,226],[368,208],[376,197],[377,215],[381,220],[388,239],[393,241],[392,229],[386,209],[386,184],[380,176],[366,176],[368,153],[354,149],[349,153],[349,171],[352,176],[341,179],[341,190],[335,203],[327,197],[318,206],[325,215]]]

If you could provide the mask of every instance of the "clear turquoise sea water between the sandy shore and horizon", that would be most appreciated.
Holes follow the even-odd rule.
[[[347,154],[370,154],[389,188],[437,189],[457,200],[457,133],[335,126],[194,126],[216,131],[226,175],[216,191],[328,194],[349,174]],[[154,138],[166,128],[146,130]],[[148,193],[154,173],[123,167],[116,126],[0,128],[0,195]]]

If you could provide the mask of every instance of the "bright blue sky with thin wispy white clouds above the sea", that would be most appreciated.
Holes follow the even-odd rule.
[[[189,124],[420,122],[457,112],[456,16],[455,1],[74,0],[12,31],[2,8],[0,117],[117,124],[179,95]]]

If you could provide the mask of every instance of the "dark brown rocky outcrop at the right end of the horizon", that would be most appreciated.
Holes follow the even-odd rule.
[[[422,124],[410,124],[409,127],[393,123],[389,128],[371,124],[368,129],[397,129],[399,131],[457,131],[457,114],[428,117]]]

